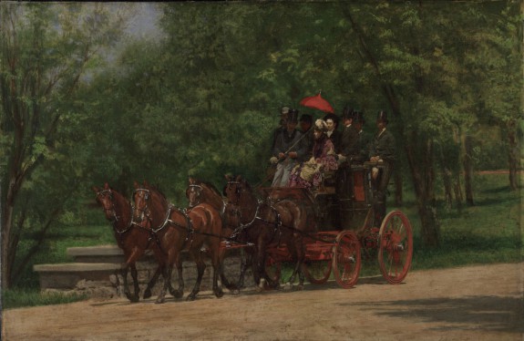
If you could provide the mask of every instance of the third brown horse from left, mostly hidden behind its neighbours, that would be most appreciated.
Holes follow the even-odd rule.
[[[190,177],[189,186],[186,189],[186,197],[189,201],[189,206],[194,207],[201,202],[207,202],[211,204],[217,211],[221,212],[222,218],[222,227],[223,227],[223,236],[230,239],[231,233],[240,225],[236,221],[236,211],[233,210],[230,206],[231,204],[226,204],[224,198],[222,198],[221,192],[213,186],[210,182],[200,181],[195,178]],[[229,219],[228,219],[229,217]],[[236,241],[241,243],[240,240]],[[222,248],[222,251],[225,251]],[[248,269],[248,266],[252,264],[252,247],[242,247],[241,248],[241,274],[237,285],[230,284],[229,281],[225,278],[224,274],[221,273],[221,282],[228,289],[230,289],[233,294],[238,294],[239,289],[244,286],[244,275]],[[221,257],[223,257],[223,253]]]

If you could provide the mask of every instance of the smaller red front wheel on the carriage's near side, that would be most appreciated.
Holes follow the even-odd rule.
[[[351,288],[358,280],[361,266],[360,242],[352,231],[343,231],[336,236],[333,248],[333,272],[336,283]]]

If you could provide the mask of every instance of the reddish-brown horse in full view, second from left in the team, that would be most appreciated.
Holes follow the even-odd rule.
[[[154,233],[166,263],[163,268],[165,283],[157,303],[163,303],[165,300],[173,266],[177,267],[179,274],[178,294],[180,296],[183,294],[184,281],[180,252],[184,249],[189,250],[191,257],[197,263],[197,281],[187,300],[196,298],[206,267],[200,253],[204,243],[209,247],[211,254],[213,293],[217,297],[221,297],[223,292],[218,285],[218,276],[221,274],[220,238],[222,222],[220,212],[209,203],[200,203],[184,212],[172,206],[158,189],[149,186],[146,181],[143,185],[135,182],[134,186],[135,210],[133,219],[139,222],[141,226],[148,228],[151,233]]]

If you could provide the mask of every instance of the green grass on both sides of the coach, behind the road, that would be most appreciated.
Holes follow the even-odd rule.
[[[520,192],[509,191],[506,174],[478,174],[474,183],[475,205],[456,208],[437,207],[440,222],[440,245],[425,248],[420,235],[420,222],[415,198],[406,189],[403,207],[414,231],[414,254],[411,270],[437,269],[485,263],[516,263],[524,259],[521,231]],[[91,213],[89,213],[91,214]],[[49,235],[46,247],[35,257],[35,263],[67,263],[67,247],[115,243],[108,222],[100,219],[102,212],[93,210],[94,223],[64,227]],[[103,218],[103,217],[102,217]],[[290,270],[283,269],[283,278]],[[380,274],[376,258],[363,262],[360,276]],[[19,287],[3,292],[4,308],[53,305],[85,299],[85,296],[40,294],[37,274],[32,264],[19,281]]]

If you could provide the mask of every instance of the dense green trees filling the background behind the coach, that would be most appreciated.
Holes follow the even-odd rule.
[[[17,252],[24,233],[78,212],[92,184],[148,180],[183,206],[189,175],[262,181],[280,107],[319,118],[298,105],[319,90],[337,113],[363,110],[370,133],[390,114],[427,246],[437,201],[473,203],[475,167],[509,168],[517,188],[517,1],[162,3],[157,39],[118,46],[114,8],[0,6],[7,285],[32,253]]]

